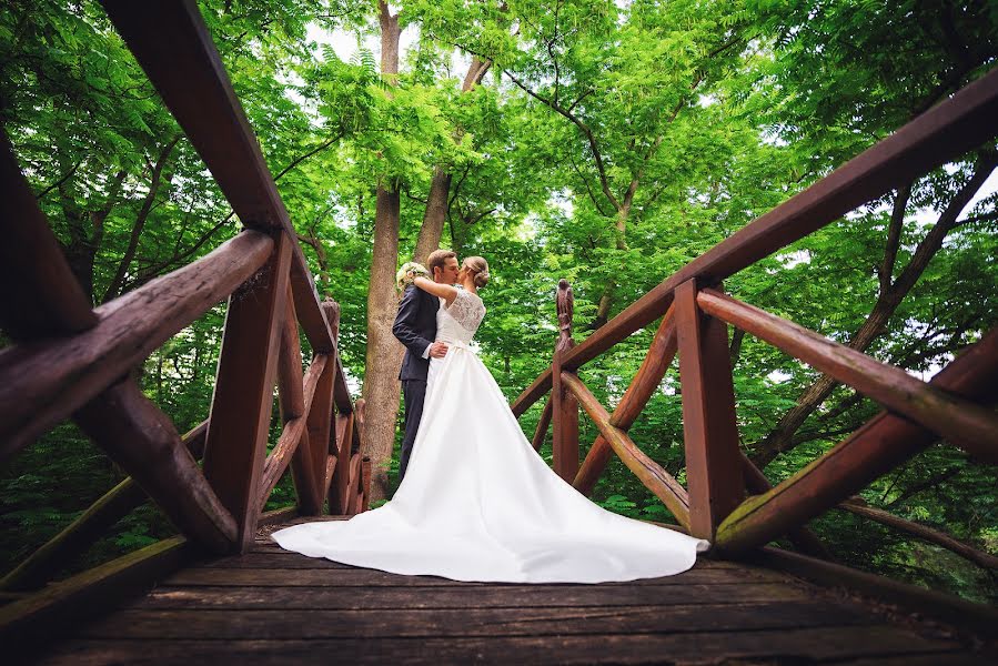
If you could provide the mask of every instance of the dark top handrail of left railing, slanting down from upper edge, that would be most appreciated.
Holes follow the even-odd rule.
[[[282,230],[294,241],[291,284],[299,321],[315,352],[332,353],[335,342],[298,234],[198,6],[191,0],[101,3],[240,221],[250,229]]]

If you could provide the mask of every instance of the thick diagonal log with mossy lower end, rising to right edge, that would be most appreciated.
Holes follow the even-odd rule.
[[[933,385],[984,403],[998,400],[998,329],[933,377]],[[776,485],[746,500],[717,529],[718,548],[744,552],[766,544],[854,495],[938,437],[881,412],[844,442]]]

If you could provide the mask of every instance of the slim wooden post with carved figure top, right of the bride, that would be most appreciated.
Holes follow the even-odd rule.
[[[558,282],[558,340],[552,363],[552,420],[554,422],[554,471],[572,483],[578,473],[578,400],[562,382],[562,357],[575,346],[572,340],[572,315],[575,299],[567,280]]]

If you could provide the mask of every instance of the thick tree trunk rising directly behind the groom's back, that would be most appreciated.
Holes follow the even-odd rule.
[[[392,16],[384,0],[381,10],[381,71],[394,84],[399,73],[399,14]],[[397,297],[395,268],[399,263],[399,189],[379,183],[374,213],[374,250],[367,290],[367,354],[363,397],[366,403],[364,452],[371,458],[371,500],[387,496],[387,466],[395,443],[399,414],[399,366],[405,351],[392,334]]]

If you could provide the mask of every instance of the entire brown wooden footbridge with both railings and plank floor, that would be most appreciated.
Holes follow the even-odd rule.
[[[805,192],[697,258],[585,342],[558,290],[553,363],[513,403],[550,393],[534,444],[588,494],[612,455],[709,557],[678,576],[599,585],[456,583],[311,559],[266,537],[367,505],[363,405],[346,390],[339,312],[320,302],[259,144],[193,2],[104,7],[245,230],[202,260],[92,310],[6,138],[0,431],[7,458],[74,420],[131,477],[0,582],[3,654],[58,663],[518,662],[977,664],[995,659],[995,608],[827,561],[813,517],[942,437],[998,462],[998,331],[931,382],[724,293],[723,281],[900,183],[998,135],[998,72],[968,85]],[[16,285],[16,286],[14,286]],[[181,436],[130,371],[229,299],[209,418]],[[661,319],[613,413],[576,371]],[[885,411],[770,487],[742,454],[727,326],[809,363]],[[302,367],[299,326],[313,352]],[[687,486],[627,432],[678,355]],[[272,386],[284,422],[266,455]],[[579,464],[579,406],[601,435]],[[199,465],[198,458],[203,457]],[[298,503],[262,507],[291,468]],[[150,496],[182,536],[46,584]],[[331,515],[323,515],[323,514]],[[887,519],[877,516],[871,517]],[[891,525],[947,547],[945,534]],[[666,528],[664,526],[663,528]],[[766,546],[788,536],[797,552]],[[955,545],[956,544],[956,545]],[[972,551],[972,549],[971,549]],[[911,613],[933,618],[913,619]]]

